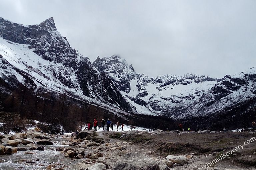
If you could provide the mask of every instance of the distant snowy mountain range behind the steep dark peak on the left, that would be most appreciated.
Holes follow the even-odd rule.
[[[97,58],[94,64],[97,63],[95,65],[102,68],[101,71],[105,71],[118,87],[123,86],[122,80],[130,80],[125,86],[129,90],[119,89],[140,114],[164,114],[174,119],[211,116],[232,110],[232,107],[255,97],[255,68],[236,75],[226,75],[222,79],[195,74],[167,74],[149,78],[129,69],[127,64],[123,67],[117,66],[116,62],[109,62],[115,59],[118,63],[122,61],[118,56],[111,56]],[[129,74],[124,74],[127,72]]]

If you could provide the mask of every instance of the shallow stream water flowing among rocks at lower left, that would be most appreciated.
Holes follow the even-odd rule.
[[[55,168],[70,169],[73,165],[82,162],[82,159],[65,158],[63,153],[55,150],[57,147],[72,147],[62,145],[64,140],[63,138],[52,139],[54,145],[44,146],[44,151],[27,150],[2,155],[0,156],[0,170],[45,170],[49,165],[56,165]],[[19,145],[18,147],[29,148],[31,146]]]

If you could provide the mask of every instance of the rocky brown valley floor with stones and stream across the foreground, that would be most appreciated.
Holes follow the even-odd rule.
[[[83,140],[76,139],[67,134],[61,136],[49,135],[54,145],[45,145],[44,151],[31,149],[33,147],[36,148],[37,144],[19,144],[17,148],[23,147],[29,150],[0,156],[0,168],[6,170],[80,170],[87,169],[95,164],[100,166],[99,163],[101,163],[102,166],[105,164],[106,168],[119,170],[118,168],[124,166],[124,164],[134,163],[133,166],[137,166],[136,161],[139,162],[141,157],[144,159],[144,155],[151,162],[166,160],[168,155],[184,155],[186,157],[185,163],[174,163],[169,168],[171,170],[202,170],[205,169],[206,163],[215,160],[219,155],[223,155],[241,144],[247,145],[244,145],[243,149],[235,151],[231,156],[220,160],[213,167],[208,168],[206,166],[207,169],[255,170],[256,166],[256,140],[245,143],[256,137],[255,132],[200,134],[161,130],[149,133],[148,131],[132,130],[119,132],[99,131],[96,133],[89,131],[89,133],[91,133],[89,134],[90,136]],[[35,138],[32,137],[32,139]],[[132,157],[133,155],[130,155],[129,159],[126,158],[127,154],[125,153],[130,152],[138,152],[137,160],[136,157]],[[78,153],[82,154],[80,159],[75,158]],[[72,156],[72,154],[75,156]],[[150,166],[147,161],[143,163],[145,165],[141,164],[138,166],[145,166],[144,168]],[[160,170],[163,169],[160,168]]]

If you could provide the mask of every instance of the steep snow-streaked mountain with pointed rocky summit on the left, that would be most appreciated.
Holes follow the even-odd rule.
[[[28,73],[28,86],[35,90],[43,88],[135,112],[109,76],[70,47],[53,18],[32,26],[0,18],[0,35],[0,77],[9,87],[24,85]]]

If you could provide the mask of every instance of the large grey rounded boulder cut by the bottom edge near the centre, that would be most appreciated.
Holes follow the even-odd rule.
[[[160,170],[156,161],[137,152],[126,153],[113,166],[112,170]]]

